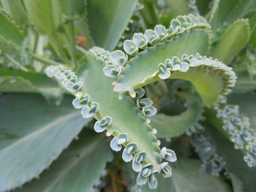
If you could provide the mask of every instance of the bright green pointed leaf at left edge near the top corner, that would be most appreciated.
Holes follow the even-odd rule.
[[[0,11],[0,23],[4,26],[0,28],[1,39],[5,39],[6,43],[12,42],[17,47],[21,47],[23,34],[20,31],[20,28],[2,11]]]

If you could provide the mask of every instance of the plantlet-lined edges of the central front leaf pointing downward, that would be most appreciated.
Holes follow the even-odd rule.
[[[92,57],[95,57],[95,56],[92,56]],[[98,57],[95,57],[95,59],[98,59]],[[161,173],[164,174],[164,177],[171,176],[171,168],[169,167],[169,165],[167,165],[167,163],[164,163],[164,164],[162,163],[160,165],[161,158],[166,158],[168,161],[171,161],[171,162],[176,160],[175,153],[171,149],[164,148],[161,150],[161,153],[160,153],[160,148],[158,147],[159,143],[157,141],[153,143],[155,147],[157,146],[158,148],[158,150],[155,152],[157,152],[158,154],[157,156],[159,156],[157,160],[158,161],[157,166],[159,166],[159,168],[156,168],[159,170],[155,170],[154,168],[155,166],[153,164],[147,163],[149,160],[147,159],[147,153],[143,151],[138,151],[138,148],[140,147],[138,144],[134,142],[128,142],[128,134],[120,133],[116,130],[113,130],[113,125],[111,125],[112,117],[103,116],[103,114],[98,111],[99,105],[95,102],[89,101],[89,95],[83,93],[81,90],[82,82],[76,81],[77,77],[75,77],[74,73],[71,70],[67,70],[63,66],[59,66],[59,67],[50,66],[47,68],[46,72],[47,72],[47,75],[50,77],[54,76],[59,80],[63,80],[62,85],[64,85],[64,87],[66,87],[69,91],[71,92],[79,91],[78,93],[75,94],[76,99],[73,101],[74,107],[83,108],[81,113],[82,113],[82,116],[85,118],[93,116],[93,114],[96,113],[94,117],[99,121],[95,123],[94,130],[96,132],[103,132],[105,129],[107,129],[107,133],[106,133],[107,136],[110,136],[111,134],[115,136],[110,142],[110,146],[113,150],[115,151],[121,150],[122,145],[126,147],[123,151],[122,157],[126,162],[131,161],[133,158],[132,167],[136,172],[139,172],[139,175],[138,175],[139,185],[145,184],[148,180],[149,186],[151,188],[156,188],[157,180],[154,174],[158,174],[159,170],[162,170]],[[75,84],[76,86],[74,87]],[[146,102],[151,103],[150,100],[147,100]],[[142,103],[144,104],[144,102]],[[156,112],[156,110],[154,110],[155,108],[152,107],[151,105],[147,107],[149,107],[151,111],[150,115],[153,115]],[[140,118],[144,119],[146,124],[143,123],[143,125],[147,126],[147,129],[150,130],[149,133],[151,133],[151,135],[153,136],[154,130],[152,130],[151,126],[148,125],[148,122],[146,121],[146,119],[141,115],[143,113],[143,108],[142,108],[142,111],[139,111],[138,108],[135,107],[135,103],[134,103],[134,108],[135,108],[135,111],[138,112],[139,116],[141,116]],[[147,109],[144,108],[144,113],[145,111],[147,111]],[[146,130],[146,132],[148,130]],[[154,136],[154,138],[156,137]],[[134,157],[132,157],[132,153],[134,154]],[[143,163],[143,165],[141,163]]]

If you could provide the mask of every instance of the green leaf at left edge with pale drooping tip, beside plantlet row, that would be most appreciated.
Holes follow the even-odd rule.
[[[63,93],[58,83],[44,73],[25,72],[19,69],[0,66],[0,92],[34,92],[41,93],[54,104],[60,104]],[[11,80],[14,79],[14,82]]]

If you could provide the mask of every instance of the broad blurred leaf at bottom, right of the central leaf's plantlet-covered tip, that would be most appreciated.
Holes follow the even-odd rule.
[[[171,178],[157,178],[158,192],[228,192],[228,185],[221,178],[205,177],[198,171],[201,161],[195,159],[179,158],[177,166],[172,168]],[[143,192],[153,192],[147,186],[142,187]]]

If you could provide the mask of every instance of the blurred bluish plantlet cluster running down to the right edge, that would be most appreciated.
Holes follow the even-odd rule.
[[[213,108],[216,117],[221,120],[221,132],[234,143],[234,148],[243,152],[243,160],[249,167],[256,165],[256,133],[250,128],[249,119],[239,114],[238,105],[227,104],[227,98],[220,96]],[[209,112],[205,113],[208,118]],[[211,124],[215,124],[209,120]],[[216,126],[219,129],[219,126]]]

